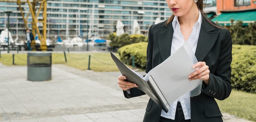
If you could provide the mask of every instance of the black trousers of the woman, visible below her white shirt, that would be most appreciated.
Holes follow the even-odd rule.
[[[175,114],[175,120],[171,120],[171,119],[161,117],[160,122],[190,122],[190,120],[185,120],[181,104],[180,104],[180,102],[178,102],[177,103],[176,114]]]

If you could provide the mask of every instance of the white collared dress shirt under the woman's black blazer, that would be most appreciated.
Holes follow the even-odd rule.
[[[179,49],[185,41],[189,42],[189,45],[191,46],[193,53],[195,53],[195,50],[196,50],[196,47],[198,44],[200,28],[202,25],[202,15],[201,15],[200,11],[199,11],[198,21],[194,24],[193,30],[192,30],[188,40],[184,40],[184,37],[180,31],[180,23],[179,23],[177,16],[175,16],[173,18],[172,24],[173,24],[173,40],[172,40],[172,44],[171,44],[171,55],[173,55],[175,53],[175,51],[177,51],[177,49]],[[162,110],[161,116],[164,118],[175,120],[175,113],[176,113],[178,101],[180,101],[180,104],[182,106],[185,120],[191,119],[190,93],[186,93],[186,94],[182,95],[180,98],[175,100],[172,104],[170,104],[170,109],[167,113],[164,110]]]

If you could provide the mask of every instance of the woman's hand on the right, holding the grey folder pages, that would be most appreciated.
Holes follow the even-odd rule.
[[[189,75],[189,80],[202,79],[206,85],[209,84],[209,66],[205,62],[198,62],[193,65],[193,69],[198,68],[196,71]]]

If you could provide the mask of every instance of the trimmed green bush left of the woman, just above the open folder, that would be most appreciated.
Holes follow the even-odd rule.
[[[134,55],[135,66],[145,69],[147,45],[147,42],[139,42],[119,48],[117,52],[120,55],[120,60],[128,65],[132,65],[132,55]]]

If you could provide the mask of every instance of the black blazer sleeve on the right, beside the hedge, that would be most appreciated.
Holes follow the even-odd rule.
[[[208,95],[212,98],[218,100],[224,100],[229,97],[231,93],[231,61],[232,61],[232,40],[229,30],[222,29],[218,43],[220,43],[216,48],[219,50],[218,62],[215,64],[214,68],[209,67],[209,85],[203,84],[202,93]],[[207,60],[211,62],[211,58]],[[211,71],[213,70],[213,71]]]

